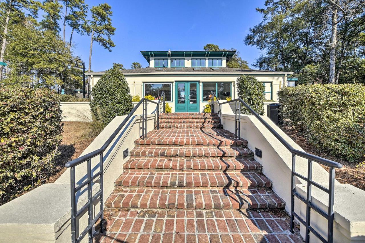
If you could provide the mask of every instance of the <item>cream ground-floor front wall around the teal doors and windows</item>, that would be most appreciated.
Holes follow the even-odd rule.
[[[255,75],[254,75],[255,76]],[[208,104],[207,102],[201,101],[201,92],[202,92],[202,83],[204,82],[230,82],[232,86],[231,93],[233,94],[233,99],[237,98],[237,88],[235,86],[235,81],[239,75],[232,76],[158,76],[158,75],[149,75],[149,76],[140,76],[140,75],[126,75],[126,80],[128,82],[129,88],[131,90],[131,95],[140,95],[143,96],[143,83],[153,83],[153,82],[168,82],[172,83],[172,102],[169,102],[169,105],[172,107],[172,112],[175,111],[175,81],[198,81],[199,82],[199,110],[203,111],[203,107]],[[273,100],[277,100],[277,92],[283,86],[285,77],[281,76],[263,76],[257,75],[255,76],[258,81],[261,82],[272,82],[272,96]],[[93,76],[91,83],[96,84],[100,79],[100,76]],[[91,86],[92,89],[93,86]]]

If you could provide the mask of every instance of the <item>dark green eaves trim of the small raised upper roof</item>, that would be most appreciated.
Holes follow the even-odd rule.
[[[174,58],[174,57],[225,57],[227,61],[236,53],[236,51],[141,51],[141,54],[150,62],[153,58]]]

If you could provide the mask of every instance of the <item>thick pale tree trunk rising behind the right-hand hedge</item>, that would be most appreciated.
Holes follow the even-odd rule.
[[[335,83],[335,65],[336,65],[336,45],[337,45],[337,6],[332,4],[331,18],[331,40],[330,40],[330,76],[328,83]]]

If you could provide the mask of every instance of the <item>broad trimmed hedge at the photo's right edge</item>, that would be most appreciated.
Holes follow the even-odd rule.
[[[281,116],[311,144],[350,162],[365,159],[364,85],[299,85],[278,96]]]

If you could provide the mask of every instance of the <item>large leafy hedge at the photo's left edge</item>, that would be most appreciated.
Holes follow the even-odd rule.
[[[0,204],[40,184],[62,140],[58,96],[0,87]]]

